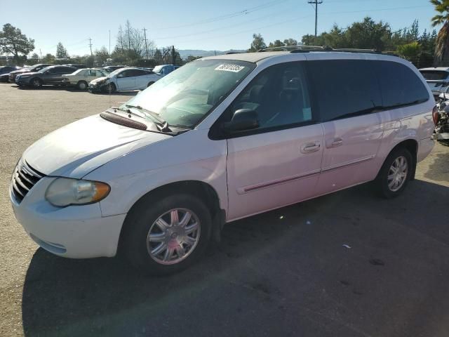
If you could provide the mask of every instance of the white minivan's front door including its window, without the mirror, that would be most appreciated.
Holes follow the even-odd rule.
[[[314,196],[323,128],[311,110],[304,62],[262,70],[225,114],[257,112],[259,127],[228,136],[228,220]]]

